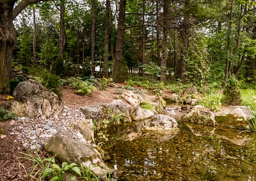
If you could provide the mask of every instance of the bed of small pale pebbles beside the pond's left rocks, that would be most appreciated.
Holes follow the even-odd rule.
[[[64,106],[60,115],[52,115],[49,119],[31,119],[28,117],[18,117],[13,124],[12,132],[23,147],[36,150],[43,147],[45,140],[60,131],[72,132],[74,122],[84,120],[85,116],[80,108],[68,108]]]

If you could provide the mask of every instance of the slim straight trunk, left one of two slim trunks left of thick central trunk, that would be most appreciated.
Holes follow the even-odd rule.
[[[95,0],[92,0],[92,76],[95,75]]]

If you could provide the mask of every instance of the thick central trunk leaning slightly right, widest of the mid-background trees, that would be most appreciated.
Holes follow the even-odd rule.
[[[120,62],[122,61],[123,57],[125,6],[126,0],[120,0],[116,34],[115,61],[113,61],[113,82],[120,82],[120,77],[118,77],[120,75],[118,74],[118,71],[120,70]]]

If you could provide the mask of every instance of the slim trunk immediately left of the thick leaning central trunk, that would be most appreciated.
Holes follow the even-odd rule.
[[[106,0],[105,37],[104,37],[104,76],[108,78],[108,27],[109,27],[110,1]]]

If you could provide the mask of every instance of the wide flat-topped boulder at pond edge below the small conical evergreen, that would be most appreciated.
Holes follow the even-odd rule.
[[[248,126],[247,119],[253,112],[247,106],[228,106],[216,112],[215,119],[219,126],[241,128]]]

